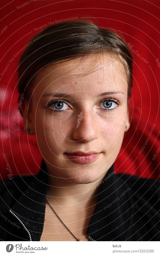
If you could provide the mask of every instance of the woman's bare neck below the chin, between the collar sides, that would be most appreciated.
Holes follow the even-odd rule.
[[[103,173],[102,176],[91,183],[76,184],[68,182],[66,179],[52,177],[48,171],[48,187],[47,187],[47,198],[48,201],[53,203],[55,206],[76,206],[77,209],[84,207],[90,207],[96,204],[98,195],[100,193],[101,185],[100,182],[106,176]]]

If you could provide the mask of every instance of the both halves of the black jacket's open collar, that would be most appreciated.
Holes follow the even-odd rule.
[[[87,234],[97,241],[123,241],[131,216],[131,210],[128,209],[131,206],[127,202],[130,193],[122,195],[128,185],[121,176],[114,174],[114,164],[103,182]],[[11,208],[30,232],[32,241],[40,241],[43,232],[47,184],[46,165],[42,160],[40,171]]]

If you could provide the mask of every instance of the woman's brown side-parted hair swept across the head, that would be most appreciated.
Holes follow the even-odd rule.
[[[30,100],[31,88],[42,68],[98,53],[110,53],[121,61],[127,77],[129,100],[132,87],[132,56],[126,43],[116,33],[101,29],[91,21],[74,20],[51,25],[30,40],[20,58],[18,68],[18,101],[22,93],[24,100]]]

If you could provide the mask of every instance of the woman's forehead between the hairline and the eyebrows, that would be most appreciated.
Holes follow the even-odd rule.
[[[127,91],[127,77],[122,62],[110,54],[85,55],[56,63],[38,72],[34,92],[50,93],[56,88],[71,93],[87,90],[98,94],[104,89]]]

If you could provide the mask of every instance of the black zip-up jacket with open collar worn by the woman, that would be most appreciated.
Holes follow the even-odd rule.
[[[0,182],[1,241],[40,241],[44,226],[47,171]],[[92,241],[160,241],[160,181],[115,174],[114,164],[87,234]],[[92,186],[91,186],[92,189]]]

